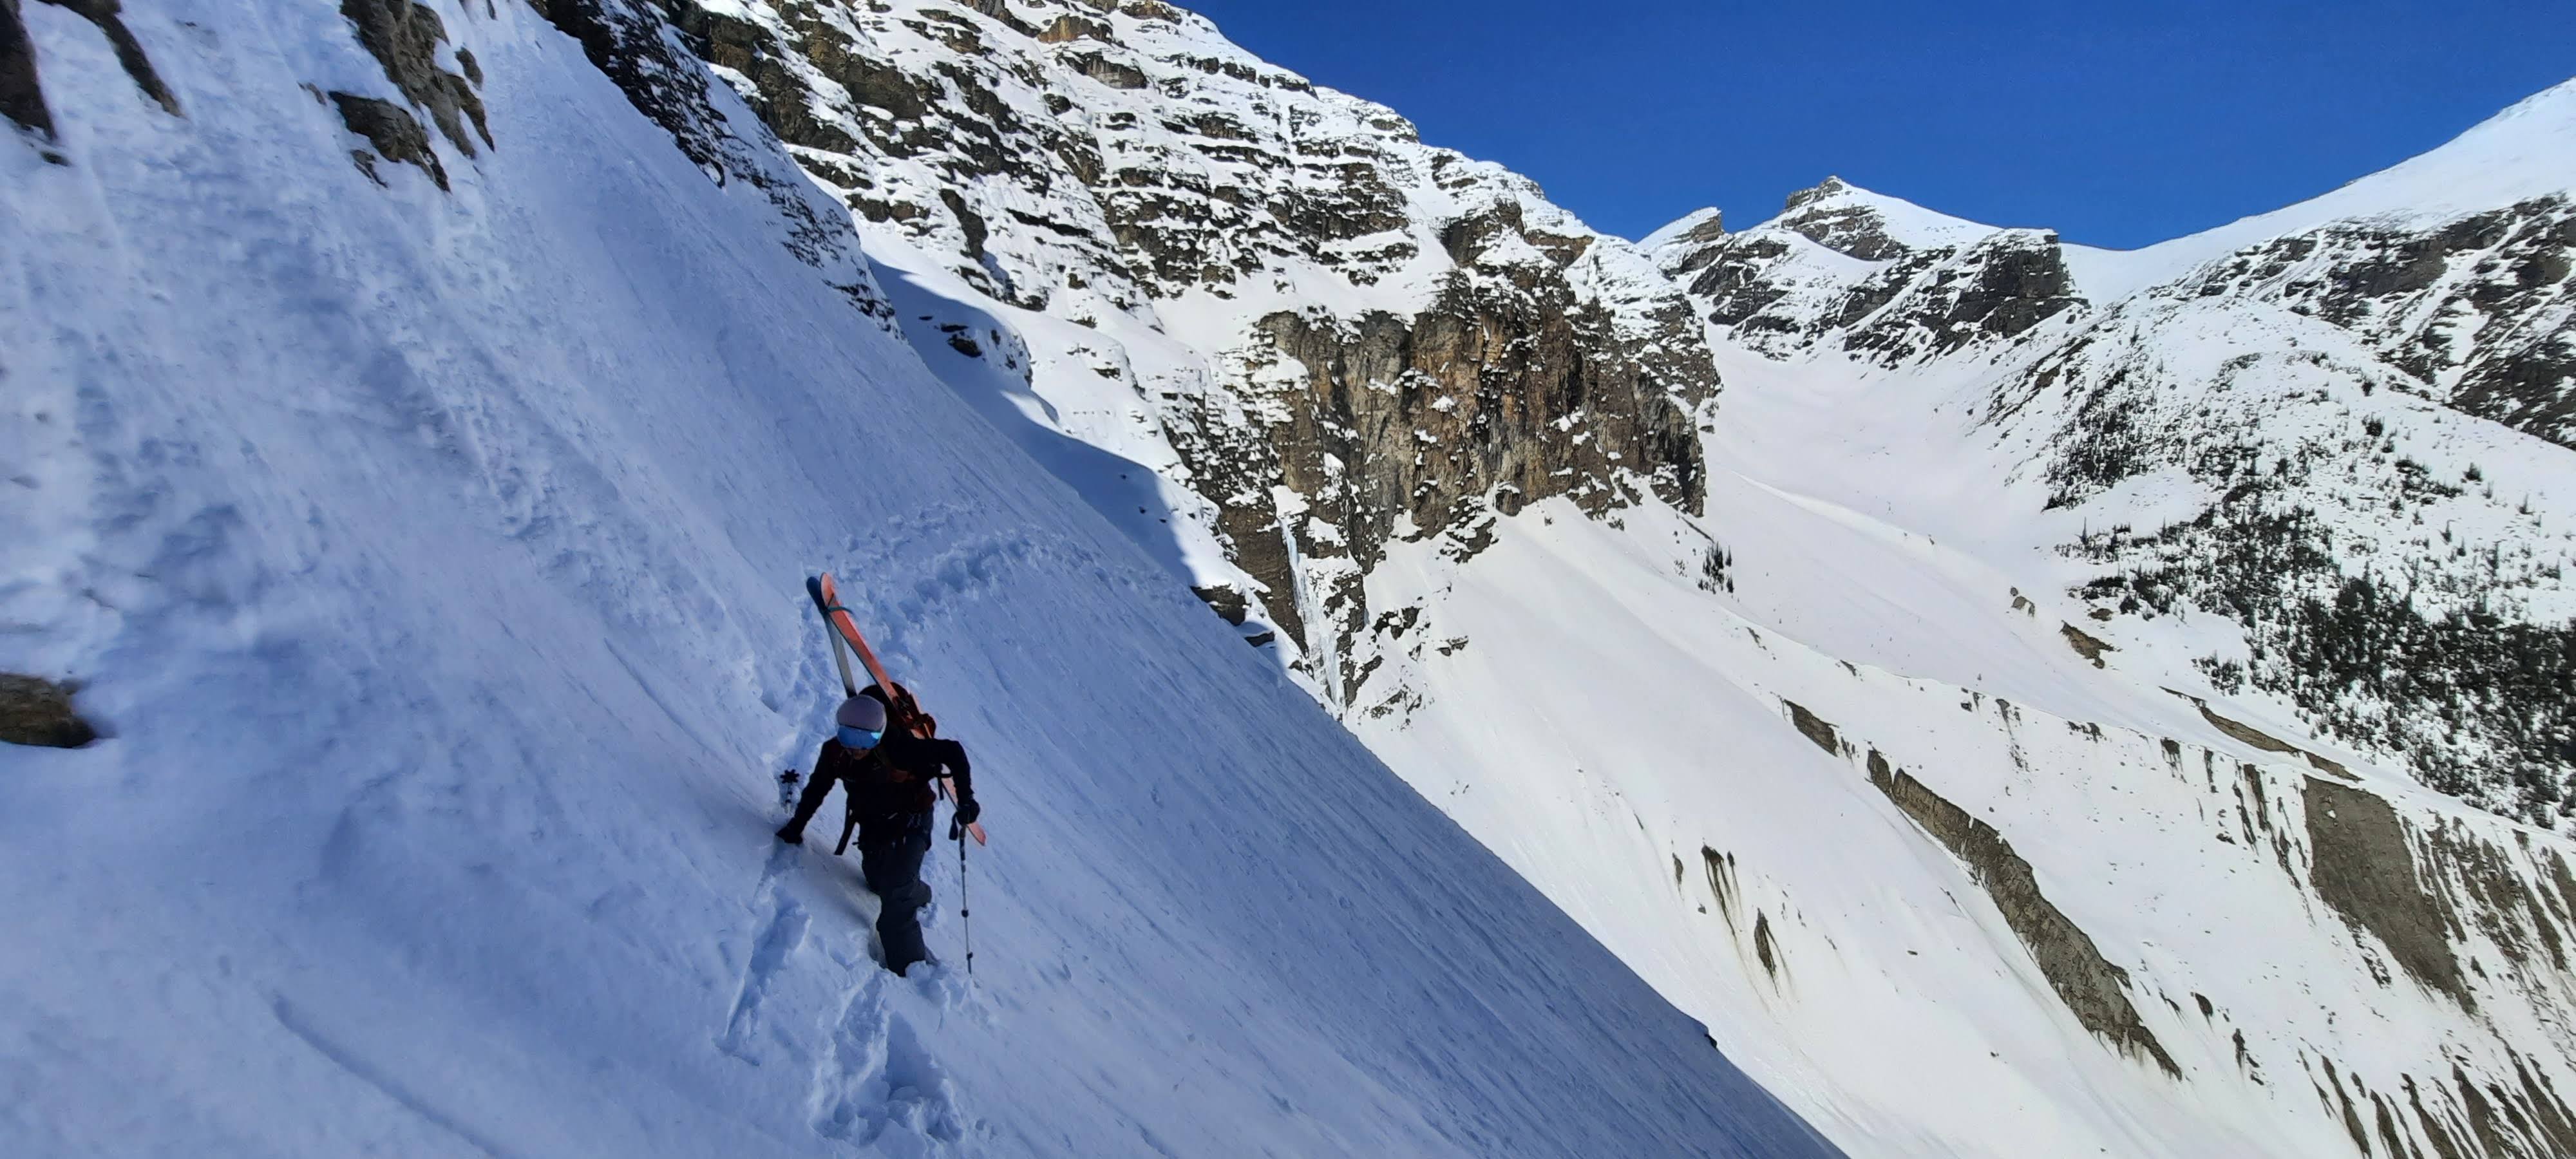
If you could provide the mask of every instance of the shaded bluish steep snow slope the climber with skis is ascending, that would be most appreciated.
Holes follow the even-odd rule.
[[[113,737],[0,749],[0,1151],[1832,1154],[930,379],[649,23],[353,13],[5,13],[0,667]],[[974,981],[768,837],[814,567],[976,752]]]

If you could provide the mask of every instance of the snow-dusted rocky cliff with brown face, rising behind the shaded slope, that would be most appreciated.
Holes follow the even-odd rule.
[[[1123,386],[1211,505],[1193,587],[1278,626],[1334,701],[1370,670],[1363,580],[1391,538],[1473,551],[1492,513],[1556,495],[1700,502],[1716,368],[1636,247],[1198,15],[670,13],[871,237],[974,291],[1030,366]]]

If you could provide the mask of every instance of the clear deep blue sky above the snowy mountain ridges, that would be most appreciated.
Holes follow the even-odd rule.
[[[2324,193],[2576,75],[2566,0],[1182,3],[1625,237],[1698,206],[1754,224],[1839,173],[2148,245]]]

